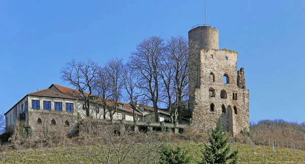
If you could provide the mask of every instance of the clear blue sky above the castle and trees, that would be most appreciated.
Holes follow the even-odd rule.
[[[250,121],[305,121],[305,1],[205,1],[220,48],[238,52]],[[52,83],[66,62],[128,59],[149,36],[185,36],[204,1],[0,1],[0,112]]]

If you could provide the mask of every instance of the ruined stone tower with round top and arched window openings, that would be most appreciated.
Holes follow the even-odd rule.
[[[218,40],[218,30],[211,26],[189,31],[191,125],[207,131],[220,121],[235,135],[249,130],[249,90],[243,68],[237,71],[237,52],[219,49]]]

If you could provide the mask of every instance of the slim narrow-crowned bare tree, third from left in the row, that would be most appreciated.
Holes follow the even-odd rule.
[[[111,122],[113,120],[113,115],[117,111],[117,101],[121,96],[121,89],[123,87],[123,66],[123,59],[119,58],[112,58],[106,64],[106,73],[110,85],[110,104],[108,104],[108,112]]]

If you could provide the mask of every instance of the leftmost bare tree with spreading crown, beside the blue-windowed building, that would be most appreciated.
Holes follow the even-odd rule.
[[[90,116],[90,101],[92,90],[97,84],[94,80],[98,76],[98,65],[91,59],[84,62],[76,62],[72,60],[66,64],[67,66],[61,70],[62,79],[67,81],[81,94],[79,95],[85,102],[86,116]]]

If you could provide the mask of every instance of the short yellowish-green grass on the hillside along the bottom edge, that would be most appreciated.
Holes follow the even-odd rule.
[[[184,142],[173,143],[174,147],[180,146],[182,150],[188,150],[193,157],[192,163],[197,163],[201,156],[202,144]],[[133,154],[137,155],[141,151],[142,145],[136,145]],[[277,148],[275,154],[272,153],[272,147],[255,146],[251,153],[251,146],[246,144],[236,144],[232,146],[233,150],[239,150],[239,163],[305,163],[305,151]],[[137,151],[138,149],[138,151]],[[26,149],[20,151],[10,151],[2,154],[1,163],[101,163],[105,161],[102,149],[97,146],[87,147],[57,147],[45,149]],[[115,154],[115,150],[112,150]],[[158,158],[157,153],[152,152],[149,158],[143,157],[143,163],[154,163]],[[287,154],[287,155],[286,155]],[[121,163],[135,163],[135,156],[127,155]],[[117,163],[117,157],[112,156],[112,162]]]

